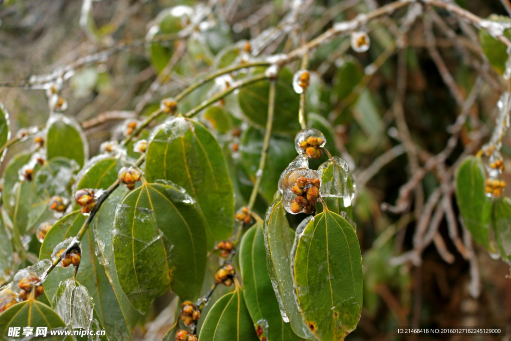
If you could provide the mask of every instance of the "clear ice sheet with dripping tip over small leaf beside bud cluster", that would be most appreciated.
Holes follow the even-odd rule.
[[[342,198],[344,207],[349,207],[355,197],[355,180],[348,164],[342,158],[334,156],[318,168],[321,177],[322,197]]]

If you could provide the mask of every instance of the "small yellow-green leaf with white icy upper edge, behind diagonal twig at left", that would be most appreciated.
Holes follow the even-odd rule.
[[[76,189],[107,189],[117,180],[117,173],[122,163],[119,157],[100,154],[92,157],[77,175]]]

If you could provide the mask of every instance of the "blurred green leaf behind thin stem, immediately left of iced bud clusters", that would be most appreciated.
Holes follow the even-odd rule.
[[[241,159],[252,183],[259,169],[264,132],[248,127],[241,136]],[[277,190],[278,178],[296,157],[294,142],[290,137],[271,135],[260,191],[267,202],[271,202]]]

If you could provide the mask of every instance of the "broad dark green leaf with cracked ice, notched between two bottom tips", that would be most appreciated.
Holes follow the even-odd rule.
[[[183,300],[198,296],[206,265],[204,223],[190,197],[170,185],[143,185],[117,206],[113,254],[121,288],[144,312],[171,289]]]

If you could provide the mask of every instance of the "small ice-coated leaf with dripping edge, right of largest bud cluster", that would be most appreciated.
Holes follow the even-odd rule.
[[[321,177],[321,197],[327,203],[330,211],[337,214],[346,212],[352,216],[352,201],[355,196],[355,180],[347,163],[338,156],[332,157],[322,163],[318,168]],[[321,212],[323,207],[316,204],[316,209]]]

